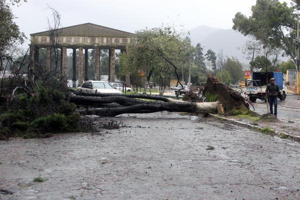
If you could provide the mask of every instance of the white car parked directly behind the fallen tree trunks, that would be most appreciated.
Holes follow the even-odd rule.
[[[83,93],[122,93],[115,89],[109,82],[99,80],[86,81],[81,87],[77,87],[76,90]]]

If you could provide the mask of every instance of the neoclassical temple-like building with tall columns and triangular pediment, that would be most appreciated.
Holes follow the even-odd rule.
[[[117,30],[93,23],[82,23],[57,29],[57,42],[53,45],[50,39],[51,31],[36,32],[30,34],[30,60],[38,62],[39,49],[46,48],[45,65],[48,70],[51,70],[51,48],[60,48],[61,73],[67,73],[66,64],[66,49],[73,49],[72,59],[72,82],[76,84],[76,49],[79,49],[78,56],[78,85],[83,83],[83,80],[88,80],[87,76],[87,50],[95,48],[95,79],[100,79],[100,49],[108,49],[109,64],[108,64],[108,80],[114,81],[115,74],[115,49],[120,49],[121,52],[126,49],[126,45],[135,41],[135,35],[131,32]],[[84,49],[84,66],[83,66],[83,49]],[[126,76],[126,83],[130,84],[129,77]]]

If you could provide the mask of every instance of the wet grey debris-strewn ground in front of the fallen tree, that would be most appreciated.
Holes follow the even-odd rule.
[[[297,142],[212,118],[130,116],[114,117],[120,129],[0,141],[0,189],[13,192],[0,199],[300,199]]]

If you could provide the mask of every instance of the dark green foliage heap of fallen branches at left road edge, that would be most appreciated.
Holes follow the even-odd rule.
[[[0,139],[77,130],[80,116],[67,95],[52,87],[39,87],[33,96],[17,95],[11,108],[0,114]]]

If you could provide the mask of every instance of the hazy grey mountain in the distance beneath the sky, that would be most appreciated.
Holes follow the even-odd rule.
[[[234,56],[240,62],[248,63],[241,49],[250,38],[232,29],[212,28],[208,26],[197,26],[190,30],[190,39],[192,45],[201,43],[203,53],[210,48],[215,53],[219,53],[223,49],[224,56]]]

